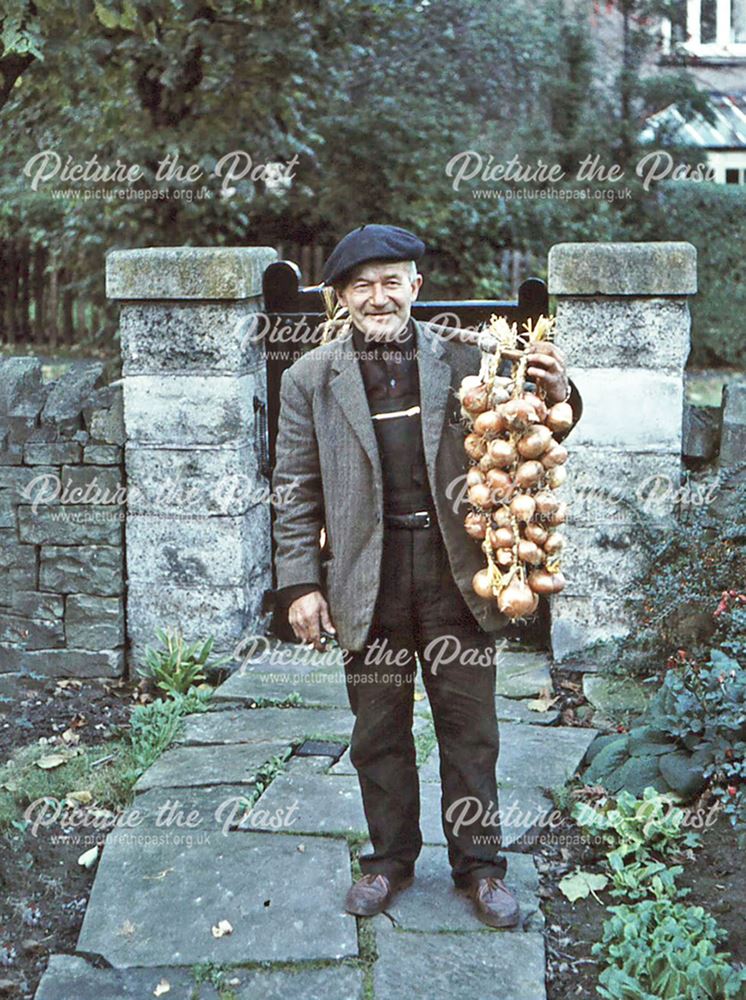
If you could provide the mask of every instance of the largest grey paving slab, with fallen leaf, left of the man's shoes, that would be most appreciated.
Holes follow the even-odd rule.
[[[357,954],[349,885],[339,840],[208,831],[189,846],[115,830],[77,951],[115,968],[340,959]],[[233,932],[215,937],[221,920]]]

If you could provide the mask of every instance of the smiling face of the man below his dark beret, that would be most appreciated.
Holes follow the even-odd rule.
[[[422,275],[411,277],[409,261],[369,261],[350,275],[337,290],[350,319],[366,337],[390,340],[409,321],[412,303],[422,287]]]

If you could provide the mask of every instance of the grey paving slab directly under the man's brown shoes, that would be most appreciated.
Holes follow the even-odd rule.
[[[360,853],[372,850],[365,844]],[[506,852],[508,867],[505,881],[515,892],[522,920],[509,933],[541,930],[544,915],[539,906],[539,873],[529,854]],[[401,930],[407,931],[483,931],[484,924],[474,915],[470,899],[458,892],[451,878],[448,851],[445,847],[422,848],[409,888],[397,893],[386,912]]]

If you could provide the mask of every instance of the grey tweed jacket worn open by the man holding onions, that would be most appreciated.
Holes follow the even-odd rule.
[[[485,558],[463,523],[469,510],[469,461],[458,390],[464,376],[479,371],[481,354],[434,324],[413,324],[423,448],[451,571],[481,628],[500,632],[507,618],[497,602],[472,589]],[[581,403],[572,388],[577,419]],[[383,478],[351,332],[313,348],[283,372],[272,489],[278,589],[318,583],[340,645],[362,649],[380,582]],[[327,536],[323,560],[322,526]]]

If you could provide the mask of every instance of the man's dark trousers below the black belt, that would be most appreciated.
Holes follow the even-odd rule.
[[[360,857],[364,874],[409,875],[422,847],[412,736],[416,656],[440,749],[441,816],[454,882],[505,875],[494,644],[456,586],[437,522],[426,529],[386,527],[366,645],[343,651],[355,715],[350,759],[373,845]]]

